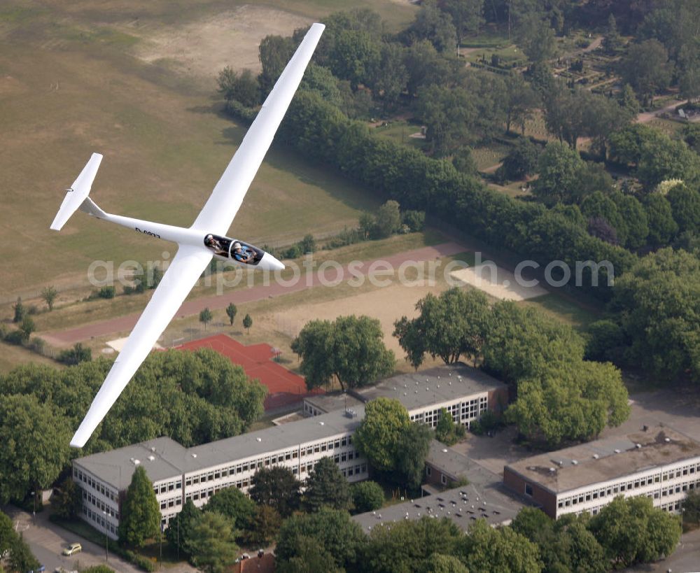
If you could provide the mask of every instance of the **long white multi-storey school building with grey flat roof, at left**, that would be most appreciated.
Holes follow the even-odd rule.
[[[334,411],[193,448],[161,437],[78,458],[73,480],[83,495],[82,517],[116,539],[121,501],[139,465],[153,482],[164,525],[189,499],[201,507],[224,488],[247,493],[262,467],[282,465],[304,481],[318,460],[329,456],[348,481],[366,479],[367,460],[352,443],[363,417],[360,406],[350,415]]]

